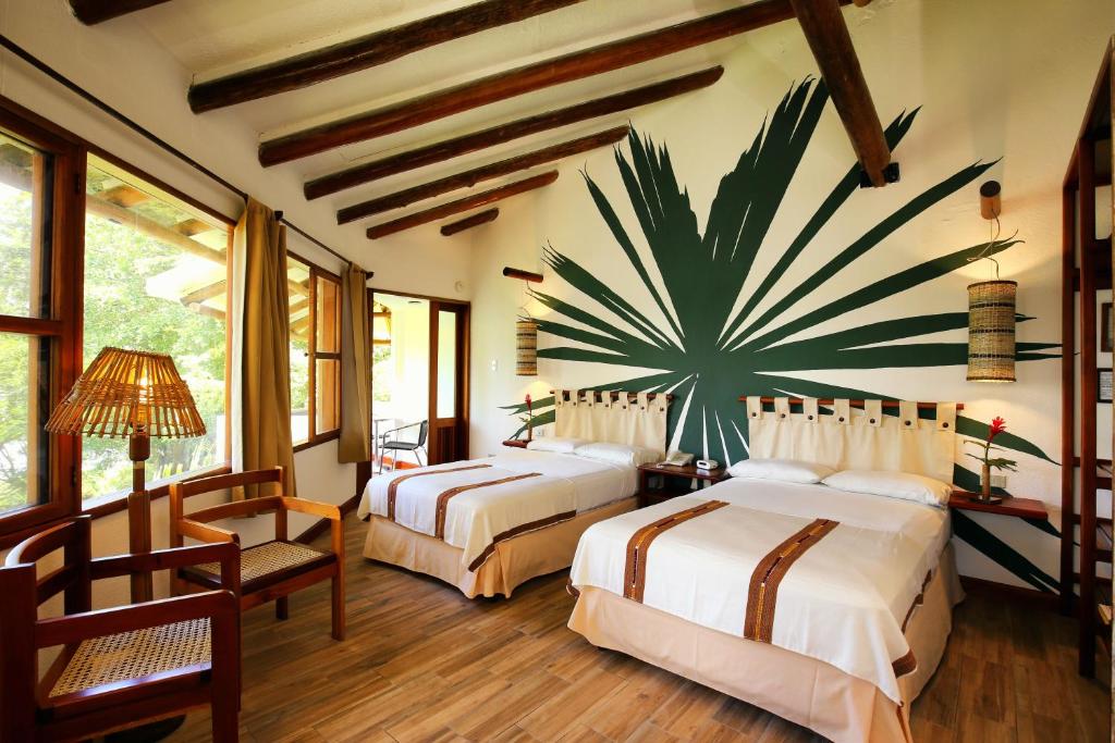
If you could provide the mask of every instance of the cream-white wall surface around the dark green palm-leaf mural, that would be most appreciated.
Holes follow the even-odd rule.
[[[791,271],[793,286],[863,232],[929,186],[977,160],[1002,158],[975,183],[954,193],[884,239],[824,287],[792,307],[786,320],[914,264],[983,242],[988,223],[979,216],[979,184],[1002,184],[1005,236],[1026,241],[1000,257],[1002,277],[1019,282],[1018,311],[1036,320],[1020,324],[1018,340],[1059,342],[1060,187],[1102,52],[1115,29],[1115,6],[1079,0],[1055,8],[1038,0],[900,0],[845,11],[872,95],[889,123],[900,111],[922,107],[894,159],[902,179],[883,189],[853,194]],[[679,183],[688,189],[701,233],[720,178],[735,167],[765,117],[795,81],[816,75],[815,62],[792,25],[762,29],[734,40],[725,52],[726,74],[714,87],[632,113],[634,127],[666,145]],[[622,145],[624,153],[627,144]],[[831,104],[776,216],[745,292],[773,265],[854,156]],[[579,388],[633,377],[622,366],[542,359],[539,377],[514,375],[514,320],[522,285],[500,275],[512,265],[543,270],[542,246],[585,266],[643,311],[663,317],[597,212],[583,169],[617,208],[643,261],[649,248],[631,211],[612,154],[601,150],[561,166],[561,177],[529,198],[501,207],[500,218],[472,231],[473,264],[473,454],[497,450],[516,423],[498,405],[541,397],[553,387]],[[582,309],[598,310],[549,268],[541,291]],[[966,285],[988,277],[986,263],[918,286],[824,323],[795,338],[844,330],[909,314],[963,312]],[[653,276],[656,283],[661,282]],[[777,289],[774,296],[779,296]],[[759,310],[769,305],[764,302]],[[543,314],[541,307],[531,307]],[[780,324],[782,320],[776,321]],[[570,323],[576,325],[576,323]],[[963,331],[917,339],[964,342]],[[540,335],[540,348],[578,346]],[[1056,350],[1054,350],[1056,353]],[[492,363],[497,369],[493,371]],[[820,364],[818,364],[820,365]],[[1010,430],[1059,459],[1059,360],[1018,364],[1009,385],[967,383],[963,366],[796,373],[823,383],[870,389],[901,399],[959,400],[980,421],[1004,416]],[[730,373],[730,370],[726,370]],[[745,393],[746,390],[736,390]],[[1111,407],[1102,416],[1109,418]],[[1109,429],[1106,429],[1109,430]],[[1039,498],[1059,524],[1059,468],[1030,456],[1009,488]],[[1015,519],[977,515],[976,520],[1051,576],[1058,573],[1056,538]],[[961,570],[1019,583],[985,556],[960,544]]]

